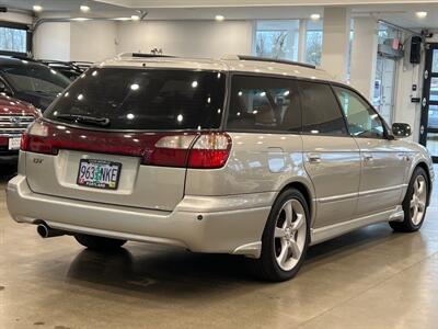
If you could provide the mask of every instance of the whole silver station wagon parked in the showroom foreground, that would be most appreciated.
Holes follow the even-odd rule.
[[[124,54],[23,135],[8,207],[45,238],[243,254],[284,281],[311,245],[381,222],[420,228],[434,171],[410,134],[308,65]]]

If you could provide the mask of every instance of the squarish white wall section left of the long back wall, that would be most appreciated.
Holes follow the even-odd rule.
[[[70,59],[101,61],[116,55],[116,22],[70,23]]]

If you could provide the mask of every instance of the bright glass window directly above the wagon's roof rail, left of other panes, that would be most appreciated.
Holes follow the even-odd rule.
[[[254,53],[260,57],[298,60],[299,20],[257,21]]]

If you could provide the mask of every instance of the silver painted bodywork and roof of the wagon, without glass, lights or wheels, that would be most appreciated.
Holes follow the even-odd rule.
[[[135,69],[143,61],[116,59],[102,66]],[[153,59],[148,65],[330,80],[323,71],[279,64]],[[428,168],[434,181],[430,156],[412,143],[229,134],[233,141],[229,160],[215,170],[146,167],[135,158],[89,152],[21,152],[19,175],[7,189],[8,208],[21,223],[45,220],[73,232],[258,257],[270,207],[290,184],[306,191],[314,245],[369,224],[402,219],[401,202],[418,163]],[[77,186],[81,158],[122,161],[127,173],[120,191]]]

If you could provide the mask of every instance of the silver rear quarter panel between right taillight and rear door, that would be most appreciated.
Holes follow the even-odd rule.
[[[229,133],[232,148],[227,164],[216,170],[188,169],[186,195],[237,195],[276,192],[287,184],[313,186],[303,167],[302,138],[292,134]],[[269,205],[274,200],[269,201]],[[311,205],[310,205],[311,206]],[[311,206],[312,208],[312,206]]]

